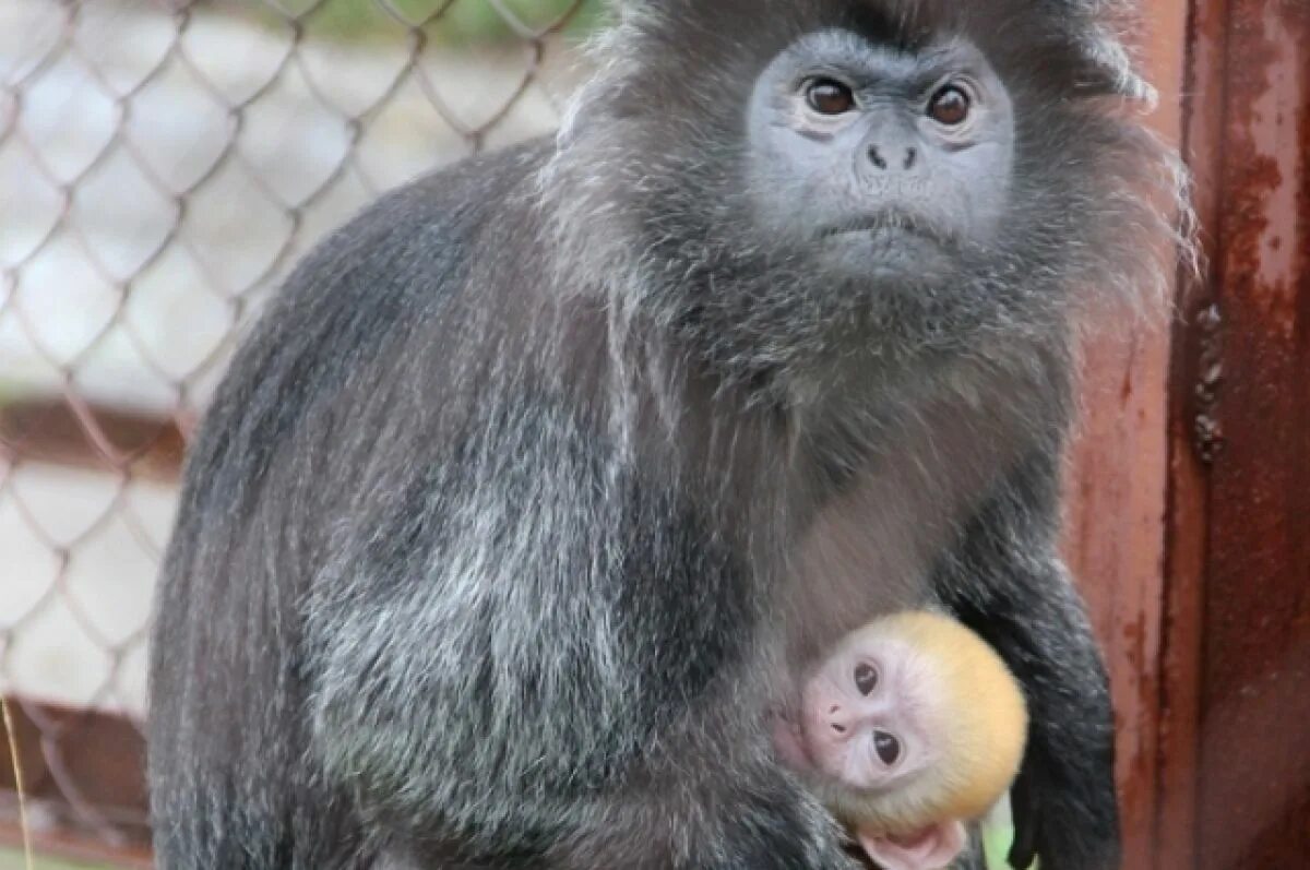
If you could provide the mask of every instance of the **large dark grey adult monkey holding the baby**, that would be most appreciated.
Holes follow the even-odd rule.
[[[1013,861],[1112,866],[1069,333],[1175,178],[1106,7],[622,3],[557,140],[312,254],[187,466],[161,866],[844,866],[762,710],[931,599],[1027,693]]]

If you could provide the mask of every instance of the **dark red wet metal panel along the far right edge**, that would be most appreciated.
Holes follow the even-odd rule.
[[[1290,867],[1310,854],[1310,3],[1203,5],[1226,9],[1207,227],[1222,318],[1196,326],[1193,436],[1203,460],[1224,451],[1208,456],[1196,863]]]

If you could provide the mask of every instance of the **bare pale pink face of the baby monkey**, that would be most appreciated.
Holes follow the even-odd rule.
[[[926,722],[934,680],[929,663],[905,643],[852,635],[802,692],[796,725],[810,763],[872,790],[927,769],[939,757]]]

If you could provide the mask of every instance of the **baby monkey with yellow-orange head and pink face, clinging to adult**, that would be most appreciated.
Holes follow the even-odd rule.
[[[1010,787],[1023,759],[1023,694],[996,651],[924,611],[842,638],[779,717],[774,743],[884,870],[941,870],[965,822]]]

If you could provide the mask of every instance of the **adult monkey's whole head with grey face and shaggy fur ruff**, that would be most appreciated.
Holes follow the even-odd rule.
[[[752,383],[1153,297],[1179,174],[1124,110],[1149,89],[1119,5],[618,3],[545,173],[557,249]]]

